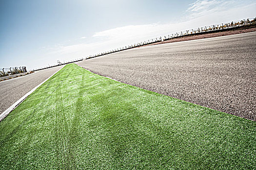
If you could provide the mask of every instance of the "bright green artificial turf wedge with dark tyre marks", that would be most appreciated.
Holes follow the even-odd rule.
[[[256,122],[62,68],[0,122],[0,169],[254,169]]]

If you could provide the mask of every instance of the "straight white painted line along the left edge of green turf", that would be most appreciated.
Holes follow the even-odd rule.
[[[64,65],[65,66],[65,65]],[[61,67],[63,68],[63,67]],[[59,68],[59,70],[61,69]],[[15,102],[13,105],[11,105],[8,109],[6,109],[4,112],[2,112],[0,114],[0,121],[2,121],[6,116],[9,115],[9,113],[11,111],[13,111],[18,105],[20,105],[21,102],[23,102],[31,93],[33,93],[40,85],[44,84],[47,80],[49,80],[52,76],[54,76],[57,72],[56,71],[53,75],[51,75],[50,77],[48,77],[47,79],[45,79],[42,83],[40,83],[39,85],[37,85],[36,87],[34,87],[32,90],[30,90],[27,94],[25,94],[23,97],[21,97],[17,102]]]

